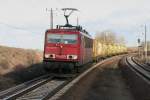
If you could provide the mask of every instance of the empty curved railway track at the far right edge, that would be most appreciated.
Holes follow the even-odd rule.
[[[133,72],[150,84],[150,66],[139,63],[134,57],[126,57],[126,64]]]

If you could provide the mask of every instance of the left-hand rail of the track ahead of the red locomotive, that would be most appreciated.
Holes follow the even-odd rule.
[[[14,88],[10,88],[8,90],[5,90],[1,92],[0,99],[2,100],[14,100],[23,94],[45,84],[46,82],[50,81],[54,76],[52,75],[44,75],[42,77],[39,77],[37,79],[31,80],[29,82],[25,82],[19,86],[16,86]]]

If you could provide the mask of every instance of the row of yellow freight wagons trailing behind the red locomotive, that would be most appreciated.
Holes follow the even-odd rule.
[[[93,61],[95,62],[127,52],[127,48],[123,44],[105,43],[97,39],[93,39],[93,41]]]

